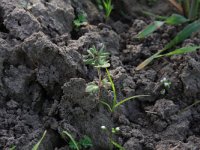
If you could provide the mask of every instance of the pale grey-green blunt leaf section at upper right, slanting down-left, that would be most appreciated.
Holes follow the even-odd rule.
[[[150,25],[148,25],[144,30],[138,33],[136,35],[137,38],[145,38],[148,37],[151,33],[156,31],[158,28],[160,28],[164,24],[163,21],[154,21]]]

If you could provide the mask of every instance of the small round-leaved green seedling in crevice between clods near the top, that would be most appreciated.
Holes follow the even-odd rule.
[[[73,21],[73,23],[76,28],[80,28],[81,26],[86,26],[88,24],[87,14],[85,12],[80,12]]]

